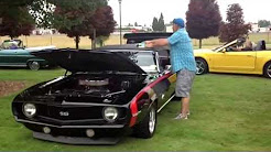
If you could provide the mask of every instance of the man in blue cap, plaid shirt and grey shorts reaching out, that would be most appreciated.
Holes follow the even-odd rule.
[[[182,97],[181,113],[175,119],[187,119],[187,115],[189,113],[191,88],[196,74],[192,40],[184,28],[183,19],[174,19],[174,33],[172,36],[169,39],[145,41],[147,47],[166,45],[171,47],[172,70],[177,74],[175,95],[176,97]]]

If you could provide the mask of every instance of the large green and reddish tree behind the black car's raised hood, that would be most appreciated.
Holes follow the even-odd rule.
[[[61,33],[67,34],[69,37],[75,37],[76,48],[79,47],[80,36],[88,36],[89,31],[94,31],[95,25],[89,23],[98,8],[106,7],[107,0],[57,0],[52,26]]]

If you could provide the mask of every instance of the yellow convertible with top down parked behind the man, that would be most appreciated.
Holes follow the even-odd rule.
[[[237,51],[245,43],[238,39],[214,50],[195,50],[197,75],[208,72],[256,74],[271,78],[271,51],[260,41],[253,51]]]

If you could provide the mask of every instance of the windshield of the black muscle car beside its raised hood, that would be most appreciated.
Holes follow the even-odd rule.
[[[123,52],[123,54],[145,72],[158,70],[153,52]]]

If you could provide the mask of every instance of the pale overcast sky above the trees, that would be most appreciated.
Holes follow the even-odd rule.
[[[246,22],[258,22],[259,20],[270,20],[271,0],[217,0],[220,13],[226,20],[226,11],[229,4],[239,3],[243,9]],[[115,20],[119,24],[119,1],[109,0],[109,6],[113,9]],[[185,19],[189,0],[122,0],[122,24],[151,25],[153,17],[159,18],[161,12],[165,23],[170,23],[174,18]]]

